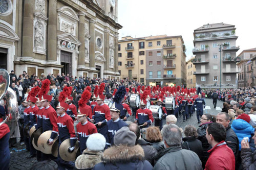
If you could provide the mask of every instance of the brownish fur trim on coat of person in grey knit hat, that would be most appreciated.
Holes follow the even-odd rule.
[[[102,156],[106,163],[127,163],[135,160],[144,160],[144,151],[140,145],[127,147],[126,145],[113,146],[106,149]]]

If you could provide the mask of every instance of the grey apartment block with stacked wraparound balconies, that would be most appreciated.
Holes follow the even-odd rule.
[[[236,88],[236,28],[226,23],[212,23],[194,30],[192,60],[196,82],[201,88]]]

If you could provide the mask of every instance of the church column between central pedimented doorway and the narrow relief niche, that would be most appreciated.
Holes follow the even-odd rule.
[[[84,42],[84,16],[86,13],[79,12],[79,23],[78,23],[78,40],[81,42],[81,45],[78,47],[79,56],[78,56],[78,65],[84,66],[84,57],[86,52],[85,42]]]

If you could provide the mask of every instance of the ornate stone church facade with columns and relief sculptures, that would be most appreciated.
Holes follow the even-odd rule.
[[[1,67],[119,78],[117,0],[3,0]]]

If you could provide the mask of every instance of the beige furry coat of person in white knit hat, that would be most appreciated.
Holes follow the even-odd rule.
[[[102,162],[103,152],[94,152],[84,150],[82,155],[78,156],[75,162],[76,169],[92,169],[97,163]]]

